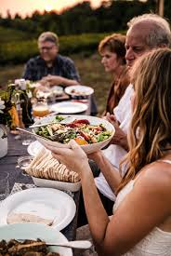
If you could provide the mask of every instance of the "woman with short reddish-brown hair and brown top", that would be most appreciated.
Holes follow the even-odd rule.
[[[104,65],[105,72],[112,74],[112,86],[108,96],[106,110],[113,114],[113,109],[125,93],[129,85],[129,77],[125,65],[125,35],[111,34],[99,42],[99,54],[101,63]]]

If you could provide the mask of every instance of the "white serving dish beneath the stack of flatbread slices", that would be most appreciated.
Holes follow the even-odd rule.
[[[57,188],[64,191],[76,192],[81,187],[81,182],[59,182],[33,177],[33,182],[38,187]]]

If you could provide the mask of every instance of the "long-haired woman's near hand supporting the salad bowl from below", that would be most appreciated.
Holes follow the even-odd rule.
[[[69,147],[70,148],[58,148],[49,145],[46,146],[46,148],[51,151],[53,157],[58,159],[59,162],[64,164],[67,168],[72,169],[81,176],[85,166],[87,165],[89,167],[87,156],[75,141],[70,141]]]

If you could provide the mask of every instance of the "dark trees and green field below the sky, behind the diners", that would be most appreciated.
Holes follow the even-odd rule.
[[[165,16],[171,18],[170,1],[165,0],[164,4]],[[17,14],[12,19],[8,11],[7,18],[0,16],[0,64],[22,63],[37,55],[36,39],[44,31],[59,34],[61,54],[90,55],[104,35],[125,31],[128,20],[155,10],[156,0],[102,1],[96,9],[85,0],[60,14],[34,11],[32,17],[21,19]]]

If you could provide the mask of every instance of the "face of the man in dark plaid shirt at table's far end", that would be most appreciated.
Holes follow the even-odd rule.
[[[52,62],[55,60],[58,53],[58,47],[56,44],[50,41],[39,42],[38,48],[42,59],[44,59],[46,62]]]

